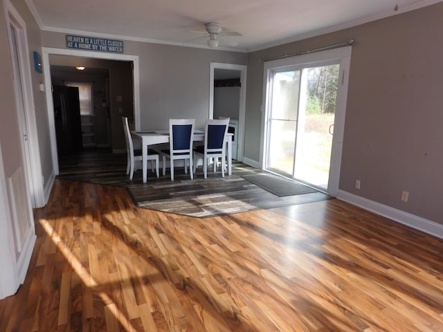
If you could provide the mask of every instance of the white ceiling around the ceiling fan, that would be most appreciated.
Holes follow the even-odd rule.
[[[219,48],[251,51],[396,15],[442,0],[26,0],[42,30],[207,47],[207,22],[242,37]],[[398,10],[394,10],[395,5]],[[351,36],[352,37],[352,36]],[[197,38],[197,39],[196,39]],[[230,46],[231,42],[238,43]]]

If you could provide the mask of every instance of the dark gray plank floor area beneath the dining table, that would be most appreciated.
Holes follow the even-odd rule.
[[[124,157],[124,158],[123,158]],[[324,201],[331,197],[323,192],[308,192],[291,196],[277,196],[262,187],[246,181],[244,177],[268,174],[243,163],[233,163],[233,174],[221,177],[220,169],[208,169],[204,178],[201,166],[193,180],[177,168],[175,181],[170,174],[156,178],[151,172],[147,183],[143,183],[141,171],[134,173],[132,181],[126,175],[126,156],[82,156],[80,160],[70,158],[61,167],[58,178],[72,181],[116,185],[126,187],[139,208],[184,214],[206,218],[252,210]],[[268,174],[269,175],[269,174]]]

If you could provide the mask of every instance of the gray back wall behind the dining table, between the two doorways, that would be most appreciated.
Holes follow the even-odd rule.
[[[64,34],[42,36],[44,46],[66,48]],[[247,59],[245,53],[132,41],[125,41],[125,54],[139,59],[142,129],[168,129],[169,119],[178,117],[195,118],[196,126],[204,127],[210,63],[246,64]]]

